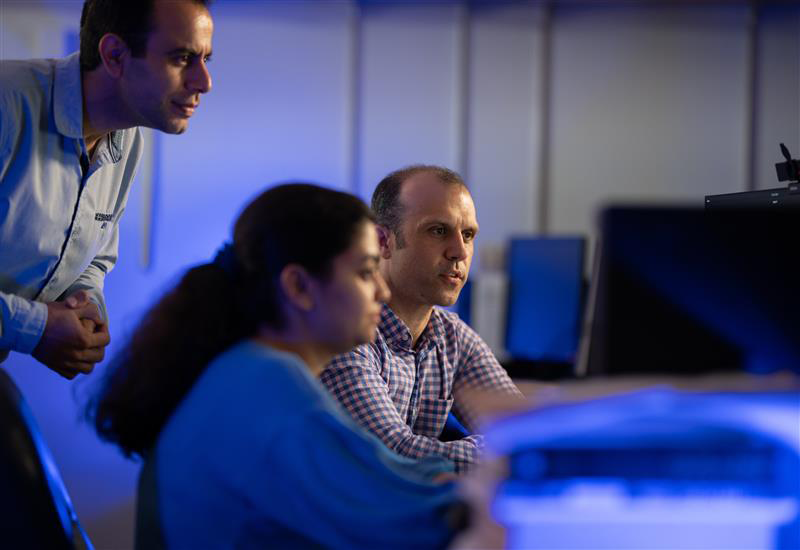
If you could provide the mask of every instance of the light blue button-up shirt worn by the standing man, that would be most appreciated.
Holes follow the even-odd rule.
[[[105,317],[142,148],[138,128],[119,130],[88,158],[77,53],[0,62],[0,361],[36,347],[44,302],[86,289]]]

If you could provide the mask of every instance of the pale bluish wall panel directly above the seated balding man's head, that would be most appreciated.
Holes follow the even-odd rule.
[[[362,198],[391,170],[457,163],[457,4],[362,6]]]

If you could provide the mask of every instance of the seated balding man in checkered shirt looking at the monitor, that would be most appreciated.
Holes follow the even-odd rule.
[[[468,429],[474,415],[459,390],[519,396],[489,346],[457,315],[478,222],[455,172],[417,165],[386,176],[372,196],[381,247],[379,270],[392,292],[371,344],[335,357],[321,380],[356,421],[396,452],[444,456],[464,472],[478,459],[480,435],[440,441],[448,413]]]

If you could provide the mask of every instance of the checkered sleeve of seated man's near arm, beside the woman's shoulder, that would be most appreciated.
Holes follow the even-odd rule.
[[[409,458],[443,456],[453,462],[456,472],[467,471],[478,460],[479,449],[483,446],[481,436],[443,442],[414,434],[392,402],[375,354],[371,345],[362,345],[339,355],[327,366],[320,380],[358,424],[396,453]]]

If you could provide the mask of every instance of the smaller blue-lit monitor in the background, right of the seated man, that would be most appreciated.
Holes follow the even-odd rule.
[[[583,237],[511,239],[506,350],[513,359],[572,363],[580,333]]]

